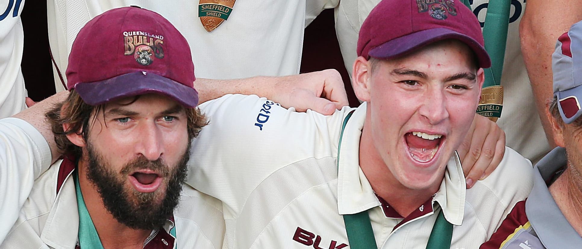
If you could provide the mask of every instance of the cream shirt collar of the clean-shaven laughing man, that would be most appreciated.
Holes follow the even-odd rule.
[[[381,205],[370,182],[359,167],[360,137],[364,128],[366,108],[367,104],[364,102],[354,111],[341,138],[341,150],[338,154],[340,215],[357,214]],[[446,166],[445,178],[433,199],[441,205],[445,219],[453,225],[461,225],[463,221],[465,190],[463,169],[459,156],[455,153]]]

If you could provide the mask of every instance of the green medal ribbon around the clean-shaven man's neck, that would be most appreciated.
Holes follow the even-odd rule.
[[[339,152],[342,146],[343,130],[346,128],[347,120],[352,117],[354,111],[347,114],[343,120],[342,132],[339,135],[338,143],[338,167],[339,167]],[[357,214],[343,215],[343,223],[346,226],[347,241],[352,249],[370,249],[378,248],[374,231],[372,230],[372,222],[368,210],[361,211]],[[431,236],[428,238],[427,249],[448,249],[450,248],[450,239],[453,236],[453,225],[445,219],[442,211],[439,212],[437,220],[432,226]]]

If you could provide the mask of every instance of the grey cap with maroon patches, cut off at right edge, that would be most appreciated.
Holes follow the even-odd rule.
[[[566,124],[582,115],[582,21],[560,35],[552,54],[553,94]]]

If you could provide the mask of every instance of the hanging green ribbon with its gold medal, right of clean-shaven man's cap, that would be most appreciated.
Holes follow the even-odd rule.
[[[485,50],[491,57],[491,68],[484,69],[485,82],[477,113],[489,117],[492,121],[497,121],[501,117],[503,107],[501,74],[503,73],[503,60],[505,59],[505,46],[508,38],[510,8],[511,1],[490,0],[483,27]]]

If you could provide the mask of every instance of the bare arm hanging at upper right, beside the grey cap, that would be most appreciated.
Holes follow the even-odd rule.
[[[568,0],[530,0],[520,23],[521,53],[533,89],[535,106],[552,146],[551,125],[545,116],[546,103],[552,98],[552,52],[558,37],[582,19],[582,2]]]

